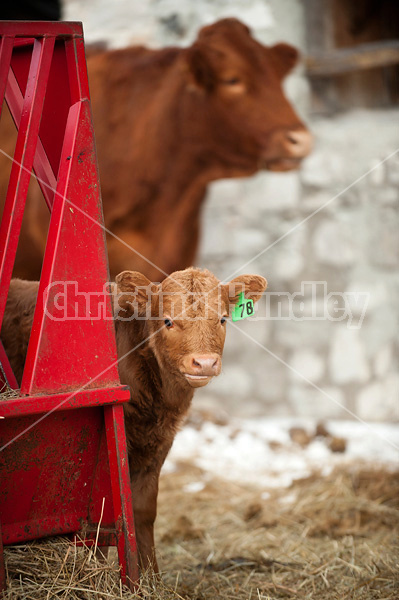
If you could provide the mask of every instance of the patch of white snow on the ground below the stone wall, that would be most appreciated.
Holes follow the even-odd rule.
[[[288,487],[315,470],[328,475],[338,465],[399,467],[399,424],[329,420],[325,425],[331,435],[345,438],[345,452],[331,452],[322,437],[305,448],[292,442],[292,427],[314,433],[316,421],[307,418],[235,419],[224,426],[205,422],[200,430],[186,426],[176,436],[164,472],[184,460],[208,477],[275,488]],[[186,491],[195,493],[201,485],[193,482]]]

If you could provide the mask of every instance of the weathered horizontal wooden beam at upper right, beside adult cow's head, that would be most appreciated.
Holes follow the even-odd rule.
[[[359,44],[305,57],[309,77],[330,77],[394,64],[399,64],[399,40]]]

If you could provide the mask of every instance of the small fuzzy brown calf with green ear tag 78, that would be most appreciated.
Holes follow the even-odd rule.
[[[19,380],[37,289],[37,282],[12,280],[1,330]],[[241,275],[223,285],[209,271],[194,268],[173,273],[161,284],[132,271],[116,277],[119,373],[132,392],[125,405],[125,424],[143,568],[152,564],[157,570],[154,521],[159,473],[194,389],[220,373],[230,305],[242,291],[256,302],[265,289],[266,280],[257,275]]]

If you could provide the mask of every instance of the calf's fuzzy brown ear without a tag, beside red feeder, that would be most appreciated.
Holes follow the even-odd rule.
[[[138,271],[123,271],[115,277],[117,298],[114,315],[121,309],[128,315],[150,316],[152,297],[158,287]],[[122,315],[123,316],[123,315]]]

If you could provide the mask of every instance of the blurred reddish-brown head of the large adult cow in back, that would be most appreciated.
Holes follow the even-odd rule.
[[[312,136],[281,87],[297,60],[293,46],[264,46],[236,19],[201,29],[186,50],[186,89],[194,124],[201,104],[206,109],[208,152],[243,171],[298,168]]]

